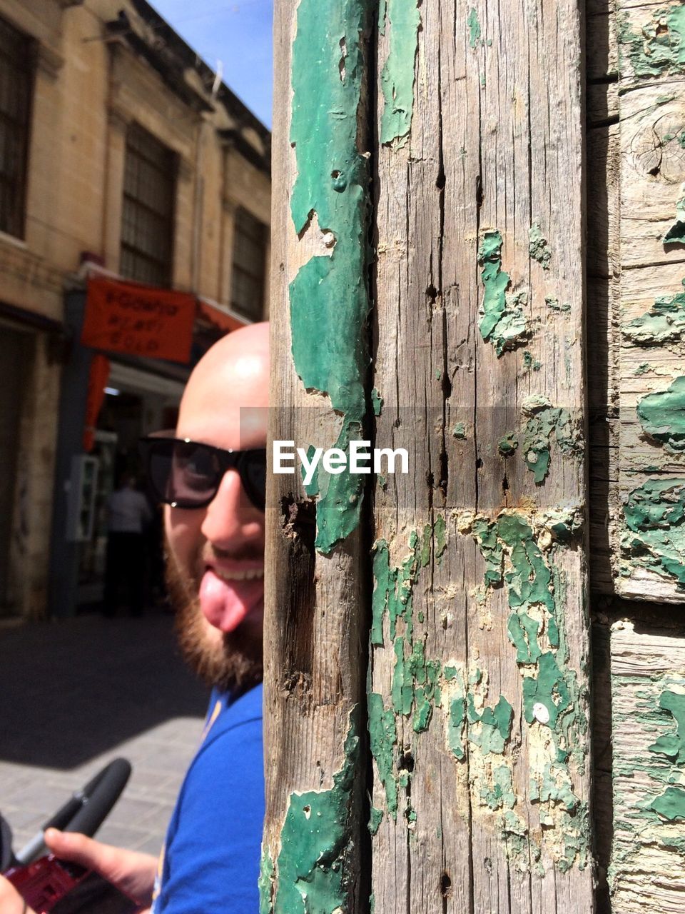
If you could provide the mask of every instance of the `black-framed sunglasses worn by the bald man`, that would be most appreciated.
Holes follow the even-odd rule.
[[[250,502],[264,510],[267,452],[225,451],[187,438],[148,435],[140,441],[155,498],[174,508],[204,508],[215,498],[227,470],[237,470]]]

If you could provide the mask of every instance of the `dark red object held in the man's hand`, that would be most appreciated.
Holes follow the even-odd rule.
[[[52,854],[4,876],[36,914],[133,914],[140,908],[97,873]]]

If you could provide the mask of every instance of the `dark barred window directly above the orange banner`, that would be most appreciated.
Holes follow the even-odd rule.
[[[175,186],[175,154],[132,124],[126,135],[123,178],[122,276],[171,285]]]

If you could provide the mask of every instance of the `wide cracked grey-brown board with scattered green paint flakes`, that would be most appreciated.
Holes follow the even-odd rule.
[[[374,385],[411,473],[375,491],[375,909],[589,912],[579,11],[424,0],[416,30],[398,6],[379,82],[413,65],[413,118],[388,133],[379,95]],[[522,297],[486,341],[489,265]],[[569,423],[539,484],[537,407]]]

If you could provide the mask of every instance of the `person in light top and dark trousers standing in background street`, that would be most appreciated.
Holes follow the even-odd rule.
[[[107,499],[107,557],[105,563],[105,616],[117,611],[120,585],[126,592],[129,614],[142,616],[145,585],[145,527],[153,513],[137,489],[135,476],[124,475]]]

